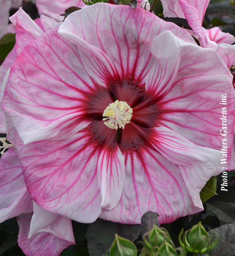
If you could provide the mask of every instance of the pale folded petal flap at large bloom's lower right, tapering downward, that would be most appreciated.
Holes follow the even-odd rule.
[[[221,173],[219,150],[200,147],[168,128],[154,128],[152,145],[180,168],[193,204],[202,208],[199,193],[211,176]]]

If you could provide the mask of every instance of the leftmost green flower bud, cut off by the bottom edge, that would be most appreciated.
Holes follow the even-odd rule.
[[[109,256],[136,256],[136,246],[128,239],[115,234],[115,240],[113,241]]]

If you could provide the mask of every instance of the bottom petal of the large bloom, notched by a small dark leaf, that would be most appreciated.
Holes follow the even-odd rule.
[[[150,142],[154,142],[154,137]],[[201,211],[195,206],[177,164],[157,152],[151,144],[123,153],[126,173],[122,197],[112,210],[102,209],[100,218],[140,224],[147,211],[157,212],[160,223],[169,223]]]

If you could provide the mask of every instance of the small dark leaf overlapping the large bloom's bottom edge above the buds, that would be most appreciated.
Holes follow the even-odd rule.
[[[143,235],[147,232],[149,232],[150,230],[152,230],[152,228],[154,227],[154,225],[156,225],[157,227],[160,227],[159,222],[158,222],[158,217],[159,215],[157,213],[154,212],[146,212],[142,217],[141,217],[141,236],[143,237]]]

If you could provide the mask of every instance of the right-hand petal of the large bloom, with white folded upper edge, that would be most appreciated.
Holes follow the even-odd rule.
[[[157,47],[160,43],[161,47]],[[159,108],[164,110],[158,126],[168,127],[197,145],[219,150],[222,145],[220,100],[224,95],[227,99],[227,139],[228,145],[232,145],[232,104],[235,100],[232,77],[216,52],[189,44],[170,31],[153,39],[151,49],[156,63],[146,80],[146,90],[159,98]],[[166,71],[168,68],[172,77],[170,71]],[[159,81],[158,77],[161,77]]]

